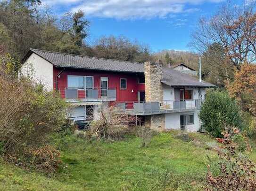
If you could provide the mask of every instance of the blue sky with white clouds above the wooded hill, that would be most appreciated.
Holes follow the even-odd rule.
[[[246,1],[246,2],[245,2]],[[252,0],[235,0],[241,5]],[[102,35],[124,35],[152,51],[189,50],[190,35],[201,16],[210,16],[225,0],[46,0],[61,15],[78,9],[91,22],[92,42]]]

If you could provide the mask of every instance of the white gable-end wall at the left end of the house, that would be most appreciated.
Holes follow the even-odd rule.
[[[31,76],[37,83],[44,84],[48,91],[53,90],[53,65],[35,53],[22,65],[21,73]]]

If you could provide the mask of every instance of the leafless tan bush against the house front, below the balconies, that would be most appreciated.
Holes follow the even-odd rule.
[[[129,125],[136,125],[134,116],[124,115],[109,103],[103,103],[99,114],[99,120],[90,124],[91,136],[97,138],[122,138],[128,131]]]

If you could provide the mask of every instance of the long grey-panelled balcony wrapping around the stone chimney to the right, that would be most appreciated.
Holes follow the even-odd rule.
[[[184,111],[200,110],[203,100],[193,99],[185,101],[116,101],[114,107],[128,115],[156,115]]]

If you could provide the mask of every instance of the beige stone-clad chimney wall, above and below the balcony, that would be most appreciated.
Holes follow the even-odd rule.
[[[156,63],[145,62],[145,92],[146,101],[163,101],[163,63],[158,61]],[[145,126],[155,129],[165,129],[165,114],[145,116]]]

